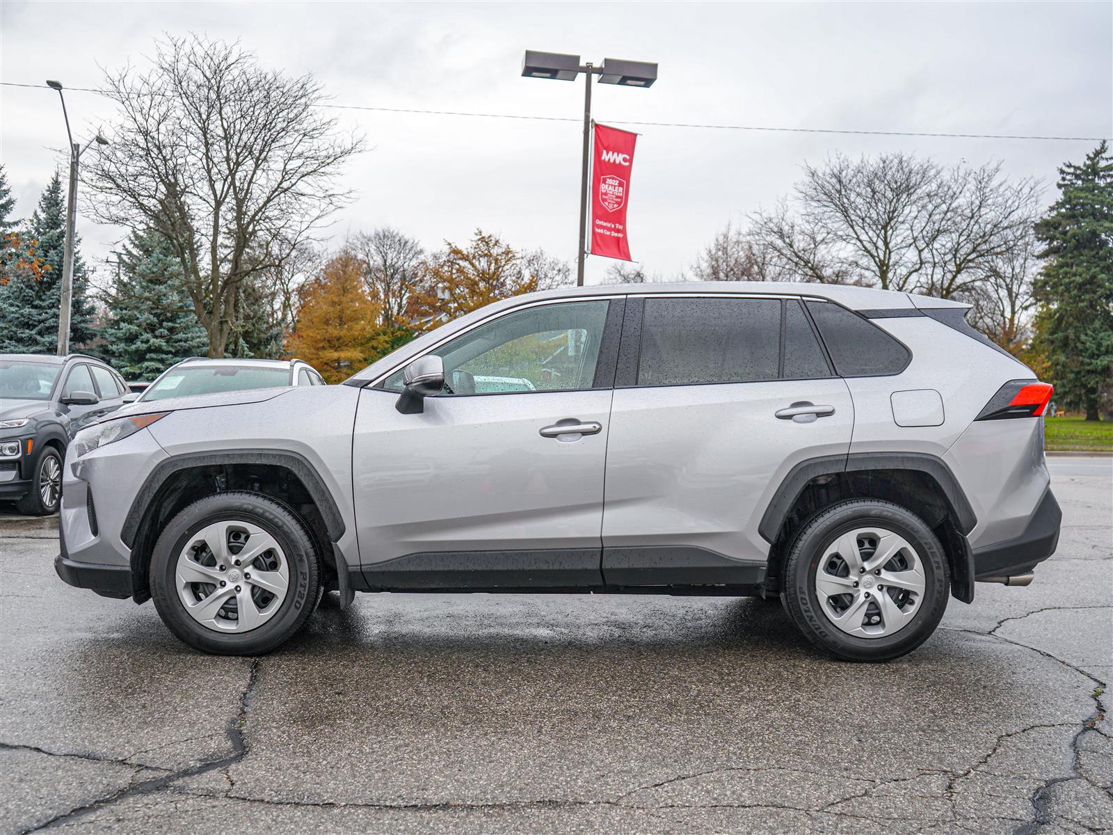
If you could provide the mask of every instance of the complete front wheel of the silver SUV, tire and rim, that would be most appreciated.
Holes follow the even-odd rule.
[[[312,534],[285,505],[258,493],[218,493],[178,513],[155,544],[150,578],[162,622],[216,655],[276,649],[305,626],[321,598]]]

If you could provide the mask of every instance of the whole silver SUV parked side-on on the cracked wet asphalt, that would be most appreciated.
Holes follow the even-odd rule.
[[[779,597],[835,656],[895,658],[1058,539],[1051,386],[965,307],[565,288],[345,385],[136,404],[69,448],[58,573],[210,652],[274,649],[328,590],[464,590]]]

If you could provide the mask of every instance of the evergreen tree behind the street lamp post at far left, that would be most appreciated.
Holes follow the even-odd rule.
[[[17,271],[10,276],[0,305],[0,353],[52,354],[58,350],[58,310],[66,258],[66,203],[61,177],[55,173],[39,206],[22,233],[36,243],[40,271]],[[93,308],[88,296],[89,276],[73,242],[73,294],[70,307],[70,344],[90,342]]]

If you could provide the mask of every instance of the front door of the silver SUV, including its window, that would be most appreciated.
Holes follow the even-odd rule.
[[[432,351],[445,387],[423,414],[395,409],[401,371],[362,392],[353,487],[368,587],[599,584],[621,306],[541,304],[461,333]]]

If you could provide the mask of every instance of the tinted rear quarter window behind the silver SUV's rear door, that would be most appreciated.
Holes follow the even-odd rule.
[[[908,367],[908,348],[868,320],[833,302],[807,305],[839,376],[883,376]]]

